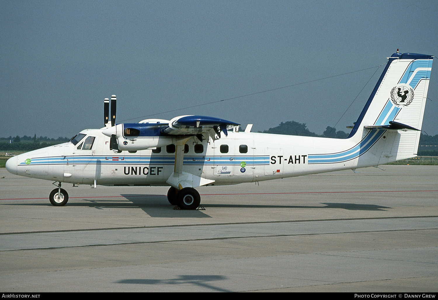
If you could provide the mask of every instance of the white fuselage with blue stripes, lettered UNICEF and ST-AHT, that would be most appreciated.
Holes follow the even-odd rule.
[[[77,149],[81,145],[68,142],[16,156],[16,174],[73,184],[92,185],[96,180],[97,185],[105,186],[168,185],[166,180],[172,174],[175,163],[173,145],[155,150],[114,153],[109,150],[109,138],[101,131],[87,129],[81,132],[86,135],[82,140],[88,136],[95,137],[89,150]],[[313,146],[315,143],[318,145],[316,148]],[[353,148],[354,144],[352,139],[318,140],[306,136],[253,132],[229,132],[227,137],[215,141],[210,138],[202,143],[192,137],[186,143],[183,171],[214,180],[213,185],[224,185],[379,163],[380,156],[373,157],[371,151],[364,160],[366,164],[360,163],[359,155],[347,161],[312,163],[312,155],[320,153],[321,149],[326,153],[336,153],[339,149]]]

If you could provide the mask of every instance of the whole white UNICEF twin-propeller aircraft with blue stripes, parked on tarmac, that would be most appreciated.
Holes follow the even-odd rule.
[[[167,199],[196,209],[198,186],[257,182],[378,166],[417,156],[433,56],[389,57],[346,139],[255,133],[220,118],[180,116],[115,124],[116,96],[104,100],[102,129],[10,158],[9,172],[59,182],[50,193],[67,203],[61,182],[103,186],[170,186]]]

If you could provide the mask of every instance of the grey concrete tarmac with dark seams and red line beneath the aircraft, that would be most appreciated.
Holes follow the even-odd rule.
[[[197,188],[72,187],[0,168],[1,292],[437,292],[438,166]]]

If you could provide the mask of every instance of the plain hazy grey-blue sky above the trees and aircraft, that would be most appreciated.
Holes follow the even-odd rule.
[[[253,130],[334,126],[375,68],[208,106],[157,114],[438,55],[437,1],[0,1],[0,136],[73,136],[156,114],[211,115]],[[438,134],[434,61],[423,129]],[[356,121],[379,68],[336,129]],[[132,121],[140,121],[141,118]]]

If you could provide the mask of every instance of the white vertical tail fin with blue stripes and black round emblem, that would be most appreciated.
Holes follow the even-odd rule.
[[[384,137],[374,145],[374,154],[382,153],[379,164],[416,156],[432,60],[425,54],[392,54],[355,123],[349,138],[362,139],[373,130]]]

